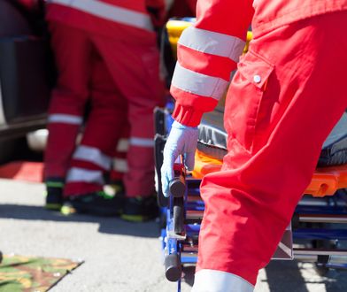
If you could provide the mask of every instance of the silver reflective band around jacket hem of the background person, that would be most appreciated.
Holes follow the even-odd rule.
[[[107,4],[98,0],[50,0],[50,3],[73,7],[81,12],[88,12],[97,17],[120,22],[127,26],[153,31],[150,16],[134,12],[127,8]]]

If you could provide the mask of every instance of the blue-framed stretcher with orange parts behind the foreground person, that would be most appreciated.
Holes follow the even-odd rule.
[[[191,20],[168,24],[174,30],[189,26]],[[171,33],[172,34],[172,33]],[[168,34],[170,35],[170,33]],[[251,34],[249,35],[251,38]],[[177,42],[174,38],[172,42]],[[197,263],[197,246],[204,202],[199,193],[201,179],[207,173],[217,172],[227,153],[227,134],[223,127],[223,104],[204,115],[199,126],[199,138],[194,171],[188,173],[183,161],[174,165],[175,179],[170,184],[170,196],[161,192],[160,167],[163,149],[173,119],[173,104],[157,109],[156,170],[158,204],[161,207],[161,244],[165,256],[166,279],[178,282],[185,265]],[[181,158],[182,159],[182,158]],[[295,181],[293,181],[295,183]],[[340,242],[347,240],[347,113],[337,123],[322,146],[320,159],[312,181],[285,230],[273,259],[313,262],[317,273],[325,274],[330,268],[347,269],[347,250]]]

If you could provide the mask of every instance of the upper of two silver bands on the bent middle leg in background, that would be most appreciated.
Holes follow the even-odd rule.
[[[91,162],[95,165],[103,167],[104,170],[110,170],[112,158],[105,155],[95,147],[80,145],[73,153],[74,159]]]

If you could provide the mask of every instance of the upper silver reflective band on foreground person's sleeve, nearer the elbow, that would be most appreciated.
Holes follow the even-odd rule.
[[[224,35],[197,27],[186,28],[179,43],[193,50],[226,57],[238,62],[246,42],[232,35]]]

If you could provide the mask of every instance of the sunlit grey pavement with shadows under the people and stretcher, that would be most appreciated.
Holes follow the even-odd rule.
[[[42,209],[42,194],[42,184],[0,180],[0,250],[84,261],[50,291],[176,291],[176,284],[164,277],[157,223],[66,217]],[[183,292],[190,290],[194,273],[191,268],[185,272]],[[345,292],[347,273],[320,277],[311,264],[273,262],[260,271],[256,291]]]

